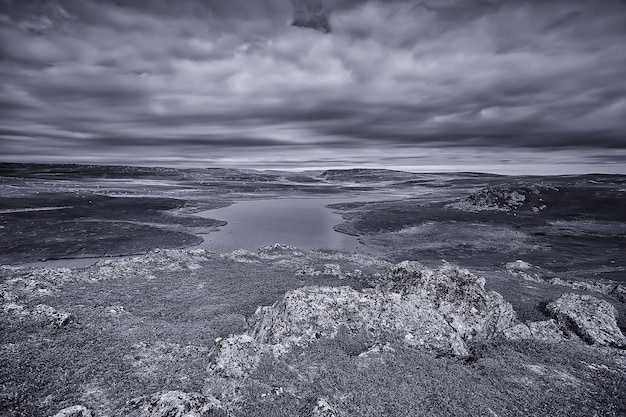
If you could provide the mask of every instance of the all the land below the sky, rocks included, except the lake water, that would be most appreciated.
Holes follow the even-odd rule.
[[[4,164],[0,414],[624,415],[625,182]],[[303,195],[362,253],[176,249]]]

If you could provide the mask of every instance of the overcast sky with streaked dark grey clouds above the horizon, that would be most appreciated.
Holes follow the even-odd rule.
[[[0,0],[0,161],[626,174],[626,1]]]

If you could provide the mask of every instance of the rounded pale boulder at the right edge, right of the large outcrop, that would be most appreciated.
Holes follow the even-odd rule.
[[[626,348],[626,338],[617,326],[617,311],[606,301],[590,295],[563,294],[547,306],[565,329],[589,344]]]

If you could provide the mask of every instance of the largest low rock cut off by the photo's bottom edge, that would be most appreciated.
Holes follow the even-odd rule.
[[[167,391],[134,398],[116,417],[226,417],[220,401],[200,394]]]

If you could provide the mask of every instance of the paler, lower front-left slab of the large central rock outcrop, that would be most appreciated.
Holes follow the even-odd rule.
[[[404,339],[431,351],[465,355],[468,348],[437,310],[414,294],[350,287],[304,287],[289,291],[251,319],[252,337],[264,344],[306,343],[334,338],[340,329],[374,340]]]

